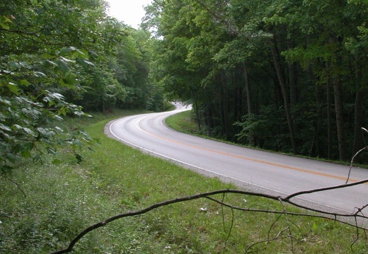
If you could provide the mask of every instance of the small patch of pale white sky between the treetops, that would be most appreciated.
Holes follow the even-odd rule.
[[[145,14],[142,6],[151,4],[152,0],[105,0],[110,4],[109,15],[117,18],[132,28],[138,28]]]

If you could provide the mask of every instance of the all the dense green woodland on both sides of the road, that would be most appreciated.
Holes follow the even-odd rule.
[[[155,0],[139,30],[107,9],[1,1],[2,173],[91,142],[50,125],[64,116],[166,99],[192,103],[202,132],[232,142],[343,161],[364,147],[367,0]]]

